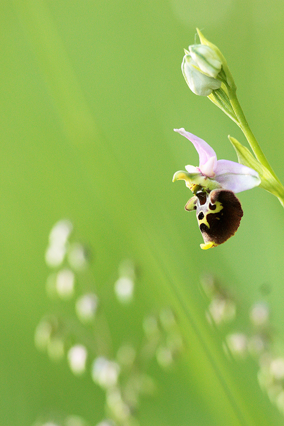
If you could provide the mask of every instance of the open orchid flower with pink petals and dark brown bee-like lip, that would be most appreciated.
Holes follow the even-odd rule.
[[[191,141],[199,154],[199,166],[185,166],[187,171],[174,174],[173,182],[183,179],[193,192],[185,206],[196,210],[204,244],[202,249],[216,247],[235,234],[243,215],[235,193],[246,191],[260,184],[258,173],[250,167],[229,160],[217,160],[213,148],[202,139],[174,129]]]

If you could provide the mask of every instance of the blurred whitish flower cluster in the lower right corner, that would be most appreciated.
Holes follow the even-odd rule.
[[[223,347],[226,354],[238,360],[245,360],[249,356],[256,359],[259,367],[258,382],[270,401],[284,415],[283,344],[273,335],[268,304],[263,300],[253,303],[247,314],[245,331],[227,332],[228,323],[237,319],[236,303],[220,288],[211,274],[204,275],[201,284],[210,299],[206,313],[209,322],[225,329]]]

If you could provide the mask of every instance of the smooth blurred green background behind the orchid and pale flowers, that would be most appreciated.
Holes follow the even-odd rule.
[[[196,27],[226,57],[251,128],[284,181],[283,17],[276,0],[1,1],[1,425],[32,425],[46,413],[95,425],[105,416],[89,374],[78,379],[66,361],[34,347],[34,330],[53,309],[48,234],[65,217],[91,248],[114,347],[140,340],[146,312],[171,306],[178,318],[183,355],[168,372],[150,366],[157,391],[142,401],[141,425],[283,424],[257,383],[256,362],[223,354],[199,284],[210,271],[244,311],[265,298],[284,339],[283,209],[259,188],[241,193],[238,232],[203,251],[194,214],[184,211],[190,193],[171,182],[198,164],[174,128],[209,142],[218,158],[236,161],[228,134],[245,143],[183,79],[183,48]],[[121,312],[110,294],[126,257],[139,274],[134,305]],[[237,312],[239,329],[246,321]]]

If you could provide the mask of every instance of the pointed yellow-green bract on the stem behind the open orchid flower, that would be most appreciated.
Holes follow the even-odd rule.
[[[259,185],[260,188],[265,189],[278,198],[282,196],[283,187],[280,182],[272,175],[272,173],[253,156],[253,154],[246,146],[243,146],[240,142],[231,136],[228,136],[228,138],[235,148],[239,163],[251,167],[258,172],[261,179],[261,183]]]

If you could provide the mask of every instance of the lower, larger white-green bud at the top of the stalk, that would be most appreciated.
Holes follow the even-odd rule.
[[[196,95],[208,96],[213,90],[220,88],[221,81],[203,73],[190,53],[185,52],[181,69],[190,90]]]

